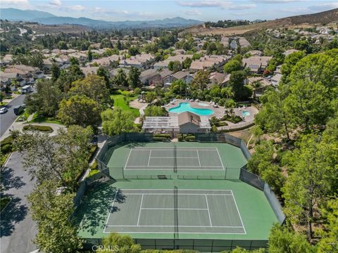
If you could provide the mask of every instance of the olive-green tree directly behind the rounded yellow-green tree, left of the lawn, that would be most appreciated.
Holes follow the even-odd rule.
[[[68,93],[70,96],[87,96],[103,108],[111,104],[109,90],[106,88],[104,78],[96,74],[89,74],[84,79],[73,82]]]

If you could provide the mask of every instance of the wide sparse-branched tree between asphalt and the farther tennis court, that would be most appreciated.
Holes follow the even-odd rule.
[[[38,184],[54,179],[74,192],[77,178],[88,167],[88,154],[93,131],[90,127],[70,126],[50,137],[39,131],[20,134],[13,143],[15,149],[27,156],[23,162],[32,179]]]

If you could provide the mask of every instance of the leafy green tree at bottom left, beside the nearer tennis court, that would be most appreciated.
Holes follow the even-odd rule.
[[[27,197],[32,219],[37,221],[35,243],[43,252],[75,252],[82,247],[72,219],[74,193],[57,193],[58,182],[44,181]]]

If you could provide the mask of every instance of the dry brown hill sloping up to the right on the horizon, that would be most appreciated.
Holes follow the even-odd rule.
[[[186,30],[183,30],[182,33],[192,33],[192,34],[222,34],[226,36],[235,35],[235,34],[244,34],[245,32],[250,32],[253,30],[267,29],[267,28],[280,28],[280,27],[296,27],[296,26],[308,26],[308,25],[324,25],[331,22],[338,22],[338,8],[332,9],[330,11],[323,11],[320,13],[306,14],[306,15],[296,15],[287,18],[279,18],[276,20],[270,20],[266,22],[260,22],[251,25],[240,25],[237,27],[211,27],[206,28],[204,25],[195,25],[189,27]]]

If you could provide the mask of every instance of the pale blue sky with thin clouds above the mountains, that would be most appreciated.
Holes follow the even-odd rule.
[[[0,7],[46,11],[58,16],[110,21],[174,17],[202,21],[274,20],[338,8],[338,0],[0,0]]]

